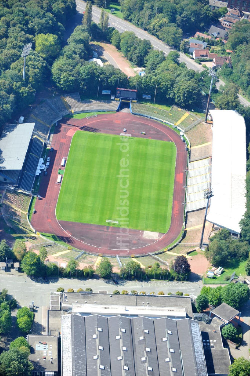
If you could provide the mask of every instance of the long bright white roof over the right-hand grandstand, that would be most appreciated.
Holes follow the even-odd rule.
[[[236,111],[212,110],[211,198],[207,220],[240,233],[245,212],[246,133],[244,118]]]

